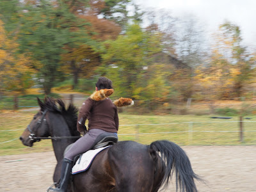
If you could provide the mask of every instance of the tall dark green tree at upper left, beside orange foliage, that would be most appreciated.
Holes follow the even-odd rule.
[[[38,83],[49,94],[60,74],[63,47],[84,42],[93,44],[84,28],[88,23],[70,13],[70,6],[61,0],[27,1],[23,9],[26,11],[20,21],[20,52],[31,54]]]

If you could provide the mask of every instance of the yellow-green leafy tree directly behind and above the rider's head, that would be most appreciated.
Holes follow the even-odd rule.
[[[141,77],[147,72],[150,56],[161,51],[159,36],[143,31],[138,24],[131,24],[124,35],[106,42],[106,53],[102,55],[106,64],[103,75],[115,81],[118,95],[137,98],[138,87],[147,86]]]

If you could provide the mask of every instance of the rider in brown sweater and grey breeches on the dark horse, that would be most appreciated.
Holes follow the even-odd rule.
[[[91,95],[91,97],[84,101],[77,118],[77,131],[79,131],[83,137],[79,138],[64,154],[60,182],[57,188],[49,188],[48,191],[67,191],[74,157],[90,150],[97,136],[104,132],[111,132],[117,137],[119,124],[117,108],[108,97],[100,97],[102,95],[100,95],[99,92],[108,89],[106,95],[111,95],[113,90],[109,92],[109,89],[112,89],[112,81],[106,77],[99,77],[95,85],[95,90],[99,95]],[[102,100],[100,100],[100,98],[102,98]],[[84,126],[86,119],[88,119],[88,130],[86,130]]]

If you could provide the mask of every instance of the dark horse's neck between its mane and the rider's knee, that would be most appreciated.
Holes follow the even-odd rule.
[[[61,115],[52,116],[50,122],[51,122],[51,125],[49,125],[49,129],[52,137],[72,136],[70,134],[67,122],[65,121],[63,116]],[[63,138],[63,139],[52,140],[52,147],[58,162],[63,159],[65,148],[71,143],[74,143],[74,139]]]

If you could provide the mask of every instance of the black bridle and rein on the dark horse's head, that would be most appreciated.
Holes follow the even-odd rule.
[[[40,118],[40,120],[38,120],[36,122],[36,127],[34,130],[38,130],[41,127],[43,121],[46,123],[45,115],[46,115],[47,111],[48,111],[48,109],[45,109],[45,111],[42,113],[42,117]],[[28,136],[29,139],[32,141],[35,141],[35,142],[40,141],[40,140],[60,140],[60,139],[64,139],[64,138],[80,138],[81,137],[81,136],[36,137],[35,133],[31,130],[29,125],[28,125],[27,129],[30,132],[30,134]]]

